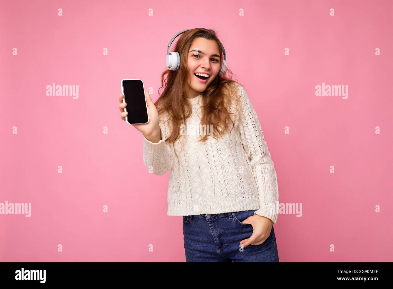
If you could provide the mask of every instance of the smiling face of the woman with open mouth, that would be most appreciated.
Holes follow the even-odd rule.
[[[202,37],[195,38],[187,57],[188,79],[185,85],[185,92],[188,91],[188,98],[194,98],[204,92],[209,84],[220,72],[220,50],[215,40],[208,40]],[[199,77],[196,73],[201,73]],[[209,76],[206,78],[206,76]],[[191,80],[191,81],[190,81]]]

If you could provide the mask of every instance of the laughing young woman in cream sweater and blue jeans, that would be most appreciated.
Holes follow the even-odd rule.
[[[168,215],[183,216],[187,262],[278,262],[277,176],[257,114],[227,77],[215,31],[181,33],[179,68],[163,72],[155,103],[145,92],[149,123],[132,124],[143,134],[144,164],[154,175],[171,171]],[[119,101],[125,120],[122,94]]]

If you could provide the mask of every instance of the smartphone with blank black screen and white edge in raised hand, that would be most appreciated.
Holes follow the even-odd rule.
[[[123,103],[127,106],[124,111],[128,114],[125,121],[131,123],[148,123],[149,114],[147,113],[147,102],[145,97],[145,87],[140,79],[122,79],[121,92],[123,94]]]

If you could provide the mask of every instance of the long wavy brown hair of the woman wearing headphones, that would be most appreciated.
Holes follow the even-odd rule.
[[[184,85],[189,75],[187,68],[187,57],[193,40],[197,37],[202,37],[208,40],[215,40],[220,50],[220,64],[222,65],[223,52],[216,33],[212,29],[195,28],[185,31],[179,37],[174,51],[180,55],[180,68],[177,71],[166,69],[161,75],[162,94],[156,100],[154,105],[158,109],[158,114],[166,113],[169,115],[169,127],[171,133],[167,137],[166,142],[173,143],[180,137],[180,127],[185,124],[186,119],[191,115],[191,105],[184,95]],[[228,72],[230,77],[228,77]],[[227,67],[223,75],[218,75],[213,79],[210,85],[202,92],[202,119],[200,125],[213,125],[213,138],[219,138],[228,129],[228,125],[233,120],[228,111],[227,105],[229,103],[230,85],[238,81],[233,80],[233,73]],[[239,83],[240,84],[240,83]],[[233,128],[233,127],[232,127]],[[208,134],[198,141],[206,141]]]

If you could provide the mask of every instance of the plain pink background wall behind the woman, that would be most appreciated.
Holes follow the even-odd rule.
[[[1,2],[0,202],[31,203],[31,217],[0,215],[0,261],[185,261],[169,173],[143,166],[118,97],[137,78],[156,100],[169,40],[196,27],[217,31],[250,96],[279,202],[302,204],[278,217],[280,261],[392,261],[392,2],[171,4]],[[79,98],[46,96],[53,82]],[[322,83],[348,98],[316,96]]]

